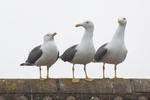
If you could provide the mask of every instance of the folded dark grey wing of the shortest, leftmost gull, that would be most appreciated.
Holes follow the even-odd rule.
[[[34,64],[42,55],[42,50],[40,49],[41,45],[35,47],[30,52],[28,59],[26,60],[27,63]]]

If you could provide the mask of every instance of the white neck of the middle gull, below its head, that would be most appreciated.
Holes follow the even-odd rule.
[[[82,37],[81,43],[84,43],[85,41],[93,41],[93,28],[85,29],[84,35]]]

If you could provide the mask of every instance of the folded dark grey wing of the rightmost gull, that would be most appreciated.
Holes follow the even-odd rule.
[[[103,44],[97,51],[96,54],[94,56],[94,60],[99,62],[107,53],[107,48],[105,48],[105,46],[107,45],[107,43]]]

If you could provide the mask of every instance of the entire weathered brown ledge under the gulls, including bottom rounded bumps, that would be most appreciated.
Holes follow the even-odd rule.
[[[150,100],[150,80],[1,79],[0,100]]]

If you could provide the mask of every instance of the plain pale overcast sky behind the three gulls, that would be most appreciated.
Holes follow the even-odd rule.
[[[94,44],[98,49],[111,40],[117,18],[126,17],[126,60],[118,65],[122,78],[150,78],[149,0],[1,0],[0,1],[0,78],[39,78],[39,68],[21,67],[33,47],[42,44],[46,33],[55,37],[60,54],[80,42],[84,29],[75,25],[94,23]],[[113,65],[106,65],[106,77],[114,76]],[[46,67],[42,67],[46,76]],[[89,77],[102,77],[102,63],[87,65]],[[58,60],[50,77],[72,77],[72,64]],[[75,66],[75,77],[84,78],[83,65]]]

